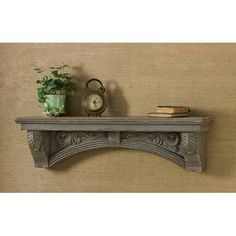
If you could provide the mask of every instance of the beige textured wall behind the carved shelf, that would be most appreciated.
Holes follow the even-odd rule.
[[[189,173],[141,151],[101,149],[53,169],[34,168],[17,116],[41,115],[33,68],[64,62],[83,85],[110,89],[106,115],[145,115],[156,105],[189,105],[215,117],[207,170]],[[236,44],[0,44],[1,192],[235,192]],[[80,91],[70,98],[79,115]]]

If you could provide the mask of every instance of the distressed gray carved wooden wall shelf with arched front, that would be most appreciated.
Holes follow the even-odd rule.
[[[27,130],[35,167],[50,167],[75,153],[121,147],[163,157],[189,171],[205,169],[212,117],[18,117]]]

